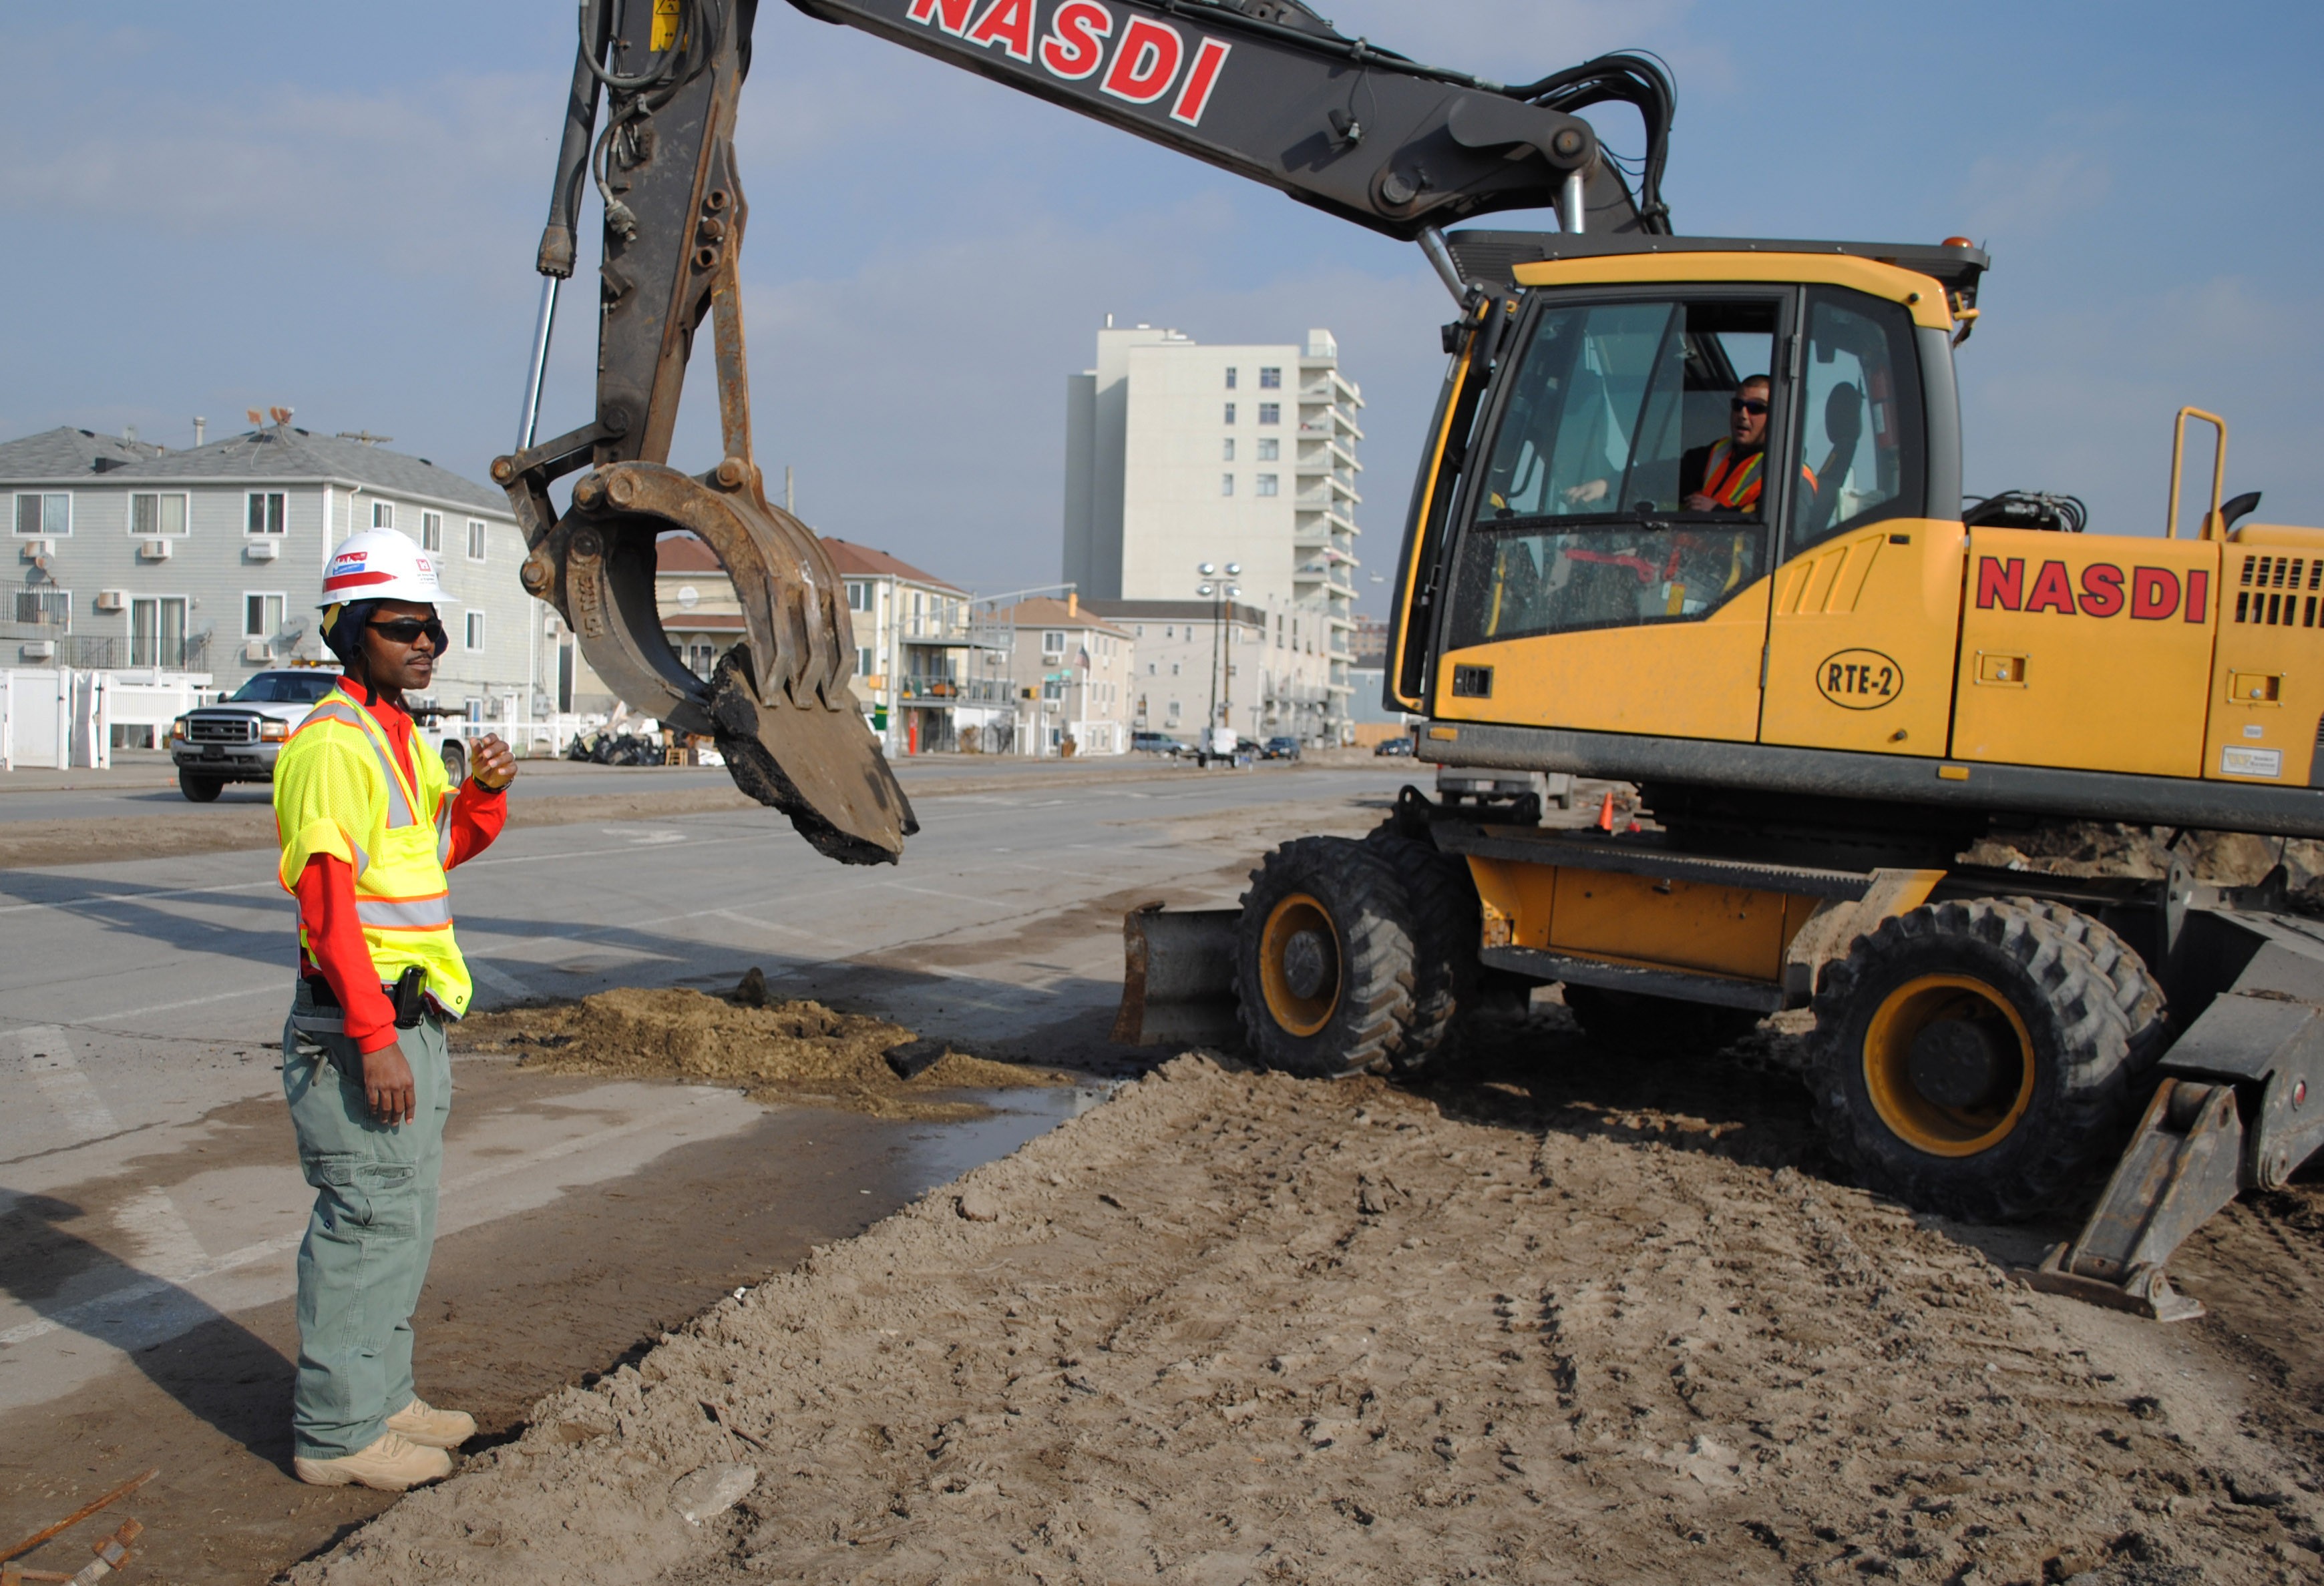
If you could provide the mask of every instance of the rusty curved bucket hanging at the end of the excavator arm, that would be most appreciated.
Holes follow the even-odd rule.
[[[709,683],[672,650],[653,604],[655,541],[672,529],[709,543],[741,597],[744,641]],[[844,585],[823,541],[767,502],[758,467],[727,457],[704,478],[658,462],[593,469],[541,553],[555,604],[616,697],[716,736],[734,785],[790,815],[818,852],[902,857],[920,822],[848,692]]]

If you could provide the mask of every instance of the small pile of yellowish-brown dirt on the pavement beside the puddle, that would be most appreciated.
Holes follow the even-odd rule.
[[[579,1003],[476,1012],[462,1052],[511,1052],[523,1068],[732,1084],[753,1101],[790,1101],[874,1117],[962,1119],[990,1108],[930,1091],[1062,1084],[1057,1075],[995,1064],[860,1012],[765,996],[758,971],[734,996],[621,987]],[[911,1077],[904,1077],[911,1075]]]

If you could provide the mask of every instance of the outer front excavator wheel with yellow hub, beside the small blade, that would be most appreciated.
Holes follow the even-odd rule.
[[[1269,1068],[1385,1073],[1413,1024],[1404,882],[1350,838],[1304,836],[1267,855],[1234,929],[1234,994]]]

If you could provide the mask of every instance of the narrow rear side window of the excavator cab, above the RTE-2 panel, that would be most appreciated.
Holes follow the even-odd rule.
[[[1901,304],[1838,286],[1808,288],[1799,402],[1796,553],[1882,518],[1920,518],[1927,497],[1920,367]]]

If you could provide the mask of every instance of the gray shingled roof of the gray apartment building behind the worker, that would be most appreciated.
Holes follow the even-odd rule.
[[[88,448],[114,448],[91,453]],[[135,460],[121,448],[135,448]],[[156,483],[191,483],[202,478],[281,478],[344,481],[390,495],[430,497],[509,516],[509,497],[500,490],[439,469],[425,457],[407,457],[386,446],[342,441],[290,425],[270,425],[230,434],[209,446],[163,450],[158,446],[109,441],[86,430],[51,430],[0,446],[0,478],[70,478],[93,474],[98,455],[119,457],[107,478],[151,478]]]

